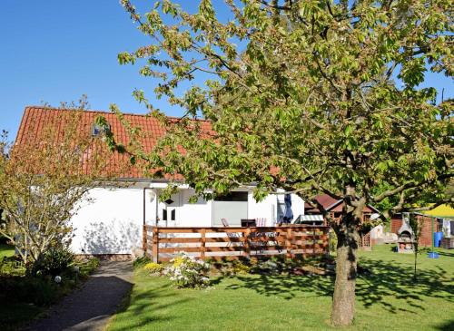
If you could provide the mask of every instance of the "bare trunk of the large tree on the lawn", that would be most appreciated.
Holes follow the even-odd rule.
[[[357,240],[360,238],[358,220],[353,215],[346,215],[336,230],[336,283],[331,312],[331,323],[334,326],[349,326],[355,315],[356,252]]]

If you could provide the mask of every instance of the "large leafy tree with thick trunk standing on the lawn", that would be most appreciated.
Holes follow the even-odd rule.
[[[168,133],[152,152],[131,145],[133,160],[198,195],[254,182],[258,200],[282,188],[318,205],[339,239],[331,321],[349,325],[363,207],[387,218],[453,201],[452,102],[420,87],[428,71],[452,76],[451,2],[163,0],[144,15],[121,3],[150,44],[119,62],[142,60],[157,97],[186,111],[166,119],[135,91]],[[320,193],[344,201],[340,220]]]

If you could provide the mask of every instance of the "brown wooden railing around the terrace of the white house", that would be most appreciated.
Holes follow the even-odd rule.
[[[143,226],[143,250],[154,262],[179,252],[196,258],[240,258],[328,254],[328,227],[287,225],[251,228]]]

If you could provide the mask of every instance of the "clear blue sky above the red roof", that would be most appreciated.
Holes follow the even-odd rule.
[[[153,5],[135,2],[140,9]],[[139,88],[153,98],[153,82],[138,74],[139,66],[119,65],[116,55],[146,42],[117,0],[2,0],[0,129],[14,139],[25,105],[58,105],[84,93],[95,110],[114,102],[123,112],[144,112],[131,94]],[[425,85],[454,97],[446,77],[430,74]],[[181,113],[165,101],[153,103],[169,115]]]

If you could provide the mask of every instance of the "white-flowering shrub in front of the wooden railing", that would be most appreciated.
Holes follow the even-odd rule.
[[[207,273],[210,270],[208,263],[192,258],[185,253],[180,253],[171,262],[172,265],[165,268],[164,274],[170,277],[174,287],[202,288],[208,286]]]

